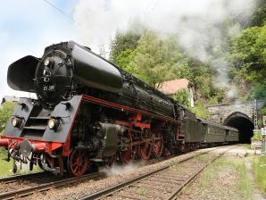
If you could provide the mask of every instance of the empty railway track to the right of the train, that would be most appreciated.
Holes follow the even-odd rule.
[[[236,147],[236,146],[235,146]],[[232,147],[232,148],[235,148]],[[220,147],[218,147],[220,148]],[[207,160],[195,160],[203,154],[208,154],[218,148],[187,157],[179,162],[171,163],[154,171],[150,171],[134,179],[129,179],[102,191],[84,196],[85,199],[175,199],[183,187],[203,171],[210,163],[216,161],[230,149],[219,155],[212,154]]]

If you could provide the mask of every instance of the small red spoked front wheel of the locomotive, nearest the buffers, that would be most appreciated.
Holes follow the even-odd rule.
[[[87,171],[88,158],[86,151],[80,149],[71,150],[68,159],[68,168],[73,176],[81,176]]]

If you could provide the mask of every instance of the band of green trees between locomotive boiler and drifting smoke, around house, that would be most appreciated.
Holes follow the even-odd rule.
[[[110,59],[153,87],[162,87],[165,80],[185,78],[193,83],[198,99],[212,104],[224,99],[223,89],[212,84],[214,72],[210,66],[181,52],[176,37],[162,39],[151,31],[145,31],[142,36],[133,31],[117,32],[112,41]]]

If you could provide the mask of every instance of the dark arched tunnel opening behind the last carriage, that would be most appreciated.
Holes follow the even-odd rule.
[[[250,143],[254,133],[253,121],[242,112],[234,112],[224,121],[224,125],[239,131],[239,143]]]

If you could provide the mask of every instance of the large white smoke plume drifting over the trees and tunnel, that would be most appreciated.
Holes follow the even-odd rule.
[[[229,87],[225,50],[254,8],[254,0],[85,0],[77,4],[73,19],[79,40],[96,52],[107,49],[115,31],[127,31],[132,21],[159,35],[175,34],[187,54],[212,66],[216,85]],[[232,96],[236,90],[229,91]]]

